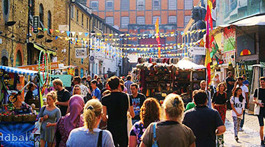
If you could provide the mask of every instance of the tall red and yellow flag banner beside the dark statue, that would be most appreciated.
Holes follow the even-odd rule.
[[[211,30],[213,30],[213,19],[211,17],[211,10],[213,8],[213,3],[211,0],[207,0],[207,13],[205,16],[205,21],[206,21],[206,56],[205,56],[205,63],[204,65],[206,66],[207,69],[207,84],[209,86],[211,82],[211,54],[210,54],[210,38],[209,38],[209,33],[210,33],[210,26]]]

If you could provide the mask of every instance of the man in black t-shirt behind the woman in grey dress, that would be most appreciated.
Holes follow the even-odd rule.
[[[52,84],[54,86],[54,89],[57,91],[57,101],[55,102],[55,104],[61,110],[61,116],[66,116],[70,93],[65,88],[63,88],[63,82],[61,82],[61,79],[54,79]]]

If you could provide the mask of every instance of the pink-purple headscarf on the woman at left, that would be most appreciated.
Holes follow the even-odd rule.
[[[63,121],[64,128],[68,134],[70,134],[71,130],[77,127],[78,123],[79,127],[84,125],[84,121],[81,116],[83,109],[83,98],[80,95],[73,95],[69,100],[70,113],[66,114],[66,118]]]

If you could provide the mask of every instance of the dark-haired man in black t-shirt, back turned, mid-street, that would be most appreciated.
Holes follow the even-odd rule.
[[[128,146],[127,111],[128,95],[121,93],[119,77],[111,77],[108,81],[112,93],[105,95],[103,104],[103,121],[107,121],[107,130],[112,133],[115,146]],[[108,116],[107,116],[108,115]],[[130,98],[130,116],[135,116]]]

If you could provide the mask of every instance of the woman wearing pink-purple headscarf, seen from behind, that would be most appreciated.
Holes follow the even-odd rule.
[[[71,130],[82,127],[84,125],[83,118],[81,116],[84,107],[84,100],[81,95],[73,95],[69,100],[69,113],[63,116],[56,124],[56,133],[59,131],[61,134],[61,140],[56,137],[56,144],[60,147],[66,146],[66,141]]]

